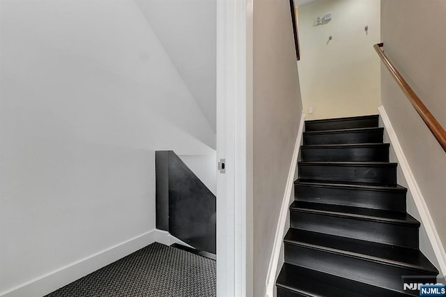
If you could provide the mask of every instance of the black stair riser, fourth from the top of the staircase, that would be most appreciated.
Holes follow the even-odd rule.
[[[393,165],[304,165],[299,164],[299,178],[318,181],[360,183],[397,183],[397,167]]]

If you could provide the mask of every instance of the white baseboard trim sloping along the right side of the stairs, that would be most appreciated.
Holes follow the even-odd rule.
[[[406,182],[408,184],[408,190],[413,196],[413,200],[415,201],[415,206],[417,206],[418,213],[420,213],[420,217],[422,220],[422,224],[424,229],[426,229],[427,236],[429,241],[431,241],[431,245],[433,248],[433,252],[436,255],[438,260],[438,264],[440,265],[440,274],[446,275],[446,253],[445,248],[440,240],[440,236],[438,236],[437,229],[435,224],[433,223],[431,213],[429,212],[429,208],[426,205],[426,201],[424,200],[423,194],[420,190],[420,187],[415,180],[415,176],[413,175],[412,170],[410,169],[408,160],[406,159],[406,155],[404,155],[403,149],[399,144],[397,134],[392,127],[392,123],[390,122],[389,116],[387,116],[387,112],[385,112],[385,108],[383,105],[378,107],[379,114],[381,119],[383,120],[385,130],[387,135],[389,135],[390,142],[392,142],[392,148],[394,149],[395,155],[397,155],[398,165],[401,167],[401,171],[403,172],[404,177],[406,178]]]

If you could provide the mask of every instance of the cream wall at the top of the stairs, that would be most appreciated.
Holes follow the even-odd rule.
[[[332,20],[315,26],[325,13]],[[298,20],[305,119],[377,114],[380,61],[373,45],[380,43],[380,1],[316,0],[299,6]]]

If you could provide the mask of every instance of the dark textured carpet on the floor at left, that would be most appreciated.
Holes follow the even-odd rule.
[[[47,297],[216,296],[215,261],[153,243]]]

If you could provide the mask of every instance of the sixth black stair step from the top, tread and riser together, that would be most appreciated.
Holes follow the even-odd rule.
[[[420,222],[408,213],[293,201],[291,227],[357,238],[362,241],[418,248]]]

